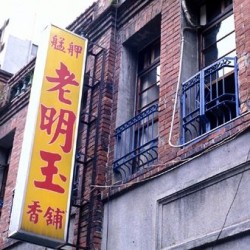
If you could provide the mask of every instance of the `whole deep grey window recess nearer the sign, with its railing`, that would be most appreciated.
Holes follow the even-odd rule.
[[[123,180],[158,158],[159,37],[160,16],[123,47],[114,161]]]

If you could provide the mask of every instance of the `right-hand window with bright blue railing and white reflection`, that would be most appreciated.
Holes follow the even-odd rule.
[[[232,1],[200,6],[200,71],[182,86],[182,142],[239,115]]]

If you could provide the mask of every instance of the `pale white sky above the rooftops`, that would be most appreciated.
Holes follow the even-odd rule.
[[[36,43],[48,24],[65,28],[93,2],[95,0],[0,0],[0,26],[11,17],[12,33]]]

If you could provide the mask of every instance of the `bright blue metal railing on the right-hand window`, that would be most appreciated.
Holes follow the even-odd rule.
[[[224,57],[182,84],[182,143],[239,115],[238,64]]]

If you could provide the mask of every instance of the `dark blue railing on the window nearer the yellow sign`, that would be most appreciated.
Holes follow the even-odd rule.
[[[158,105],[155,104],[115,130],[114,171],[126,179],[158,157]]]

